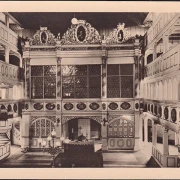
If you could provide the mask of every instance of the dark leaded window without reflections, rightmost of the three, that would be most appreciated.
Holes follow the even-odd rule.
[[[108,98],[133,97],[133,65],[107,66],[107,96]]]

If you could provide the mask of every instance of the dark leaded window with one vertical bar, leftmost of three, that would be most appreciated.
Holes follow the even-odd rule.
[[[56,98],[56,66],[31,66],[31,98]]]

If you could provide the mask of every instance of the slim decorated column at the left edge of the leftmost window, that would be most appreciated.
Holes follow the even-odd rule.
[[[25,97],[30,98],[30,58],[25,58],[25,70],[26,70],[26,77],[25,77]]]

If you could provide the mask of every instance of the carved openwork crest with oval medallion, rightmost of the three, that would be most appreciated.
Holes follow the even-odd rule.
[[[125,24],[118,24],[106,39],[107,44],[119,44],[126,42],[130,39],[130,33],[127,28],[124,28]]]

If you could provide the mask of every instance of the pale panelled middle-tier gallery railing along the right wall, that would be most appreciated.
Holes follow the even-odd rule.
[[[157,59],[155,59],[145,67],[145,76],[162,76],[169,71],[179,70],[179,52],[180,44],[176,45],[165,54],[159,56]]]

